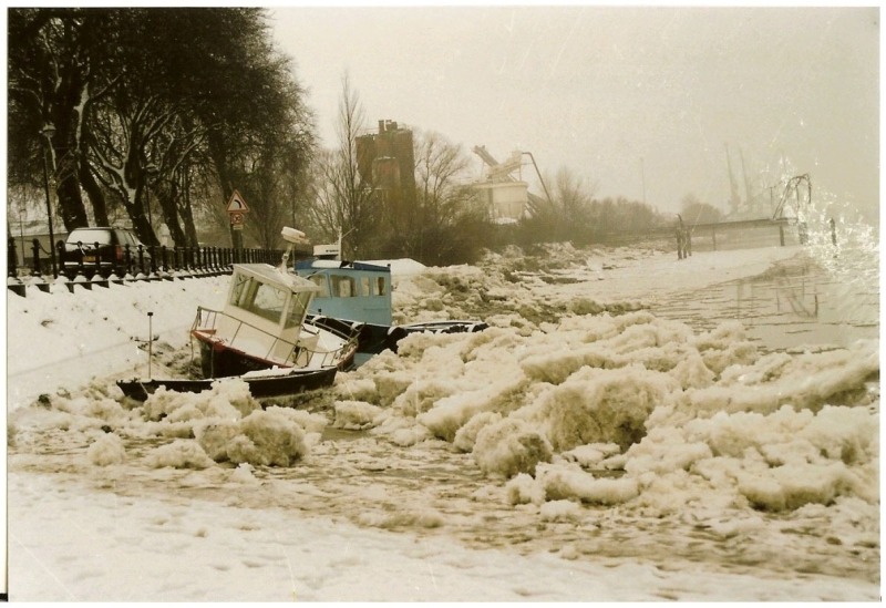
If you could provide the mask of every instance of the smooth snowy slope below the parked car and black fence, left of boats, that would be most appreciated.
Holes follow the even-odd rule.
[[[7,359],[8,409],[91,377],[136,365],[144,373],[148,329],[157,337],[155,357],[187,344],[197,307],[220,308],[228,280],[128,281],[74,293],[61,285],[49,293],[29,286],[24,298],[9,292],[7,318],[14,322],[7,326],[13,353]]]

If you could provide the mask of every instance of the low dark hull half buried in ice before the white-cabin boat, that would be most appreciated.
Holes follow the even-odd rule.
[[[319,370],[291,369],[281,374],[243,377],[240,380],[249,385],[249,393],[254,398],[262,399],[293,395],[331,387],[336,380],[337,372],[338,368],[334,367]],[[222,379],[120,380],[117,381],[117,387],[120,387],[125,396],[136,401],[145,401],[161,387],[175,392],[199,393],[212,389],[213,383],[218,380]]]

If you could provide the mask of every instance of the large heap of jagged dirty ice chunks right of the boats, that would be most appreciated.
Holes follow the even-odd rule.
[[[730,508],[873,508],[877,350],[761,353],[734,321],[696,333],[645,311],[565,316],[530,332],[411,336],[338,391],[360,387],[383,409],[371,410],[381,436],[471,453],[511,480],[515,505],[674,513],[714,492]]]

